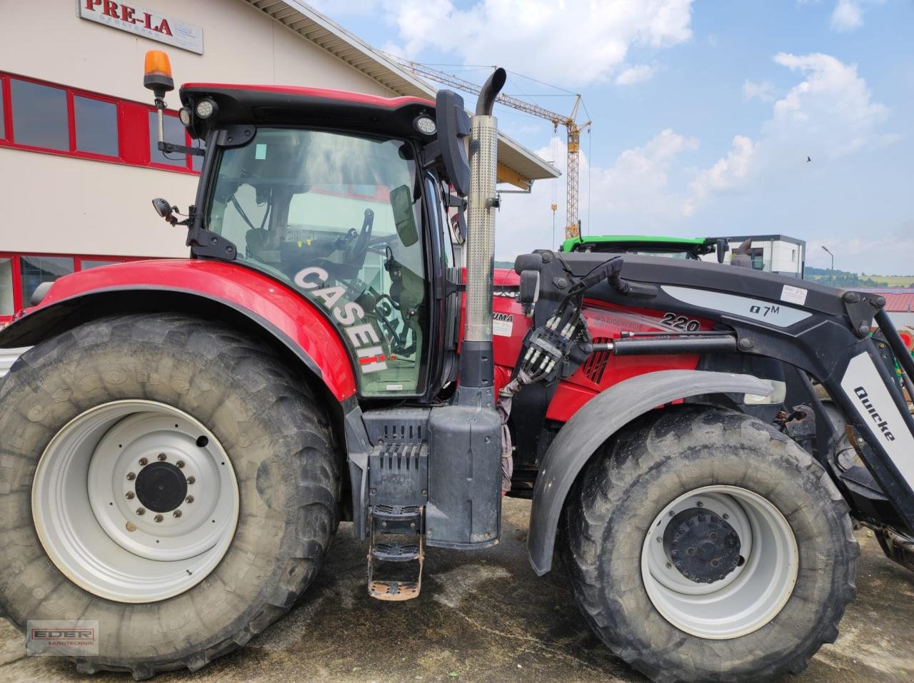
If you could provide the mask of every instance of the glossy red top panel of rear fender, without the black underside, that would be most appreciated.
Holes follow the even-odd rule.
[[[175,259],[83,270],[59,278],[41,306],[27,312],[85,294],[125,289],[180,291],[225,303],[261,325],[267,323],[269,331],[285,338],[283,342],[297,346],[320,371],[337,400],[356,393],[352,365],[331,323],[300,294],[238,264]]]

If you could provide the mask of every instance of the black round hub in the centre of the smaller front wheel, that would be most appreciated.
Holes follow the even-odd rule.
[[[689,581],[714,583],[739,566],[739,534],[714,512],[690,508],[664,531],[664,552]]]

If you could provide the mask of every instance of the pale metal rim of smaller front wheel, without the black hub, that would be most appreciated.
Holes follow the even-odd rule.
[[[686,578],[664,547],[671,520],[692,509],[716,515],[739,536],[742,562],[713,583]],[[648,597],[666,621],[693,636],[723,640],[757,631],[781,612],[799,557],[790,524],[771,502],[749,489],[707,486],[679,496],[654,518],[641,571]]]

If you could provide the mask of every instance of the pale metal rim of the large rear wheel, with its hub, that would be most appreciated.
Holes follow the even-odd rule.
[[[152,401],[75,417],[51,439],[32,484],[48,557],[73,583],[121,603],[165,600],[203,581],[228,551],[239,509],[218,439]]]

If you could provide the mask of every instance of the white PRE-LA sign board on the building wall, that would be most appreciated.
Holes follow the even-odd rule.
[[[203,54],[203,29],[200,26],[112,0],[79,0],[78,6],[83,19]]]

